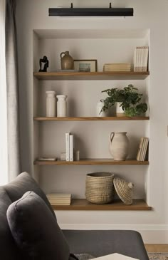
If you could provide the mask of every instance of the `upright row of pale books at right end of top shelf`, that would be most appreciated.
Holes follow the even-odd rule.
[[[140,46],[135,48],[134,71],[147,71],[149,55],[149,46]]]

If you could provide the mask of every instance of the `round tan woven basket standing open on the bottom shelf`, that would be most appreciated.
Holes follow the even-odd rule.
[[[115,188],[112,173],[89,173],[85,182],[85,197],[88,202],[107,204],[114,199]]]

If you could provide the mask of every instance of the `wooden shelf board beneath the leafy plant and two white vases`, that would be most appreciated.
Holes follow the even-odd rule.
[[[138,117],[66,117],[66,118],[47,118],[47,117],[35,117],[35,121],[110,121],[110,120],[149,120],[149,117],[138,116]]]

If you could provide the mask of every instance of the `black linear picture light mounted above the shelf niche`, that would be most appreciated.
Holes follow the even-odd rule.
[[[133,8],[49,8],[49,16],[133,16]]]

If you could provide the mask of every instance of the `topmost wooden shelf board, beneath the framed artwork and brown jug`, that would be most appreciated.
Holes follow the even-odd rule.
[[[34,72],[38,80],[110,80],[110,79],[145,79],[147,72],[112,71],[112,72]]]

